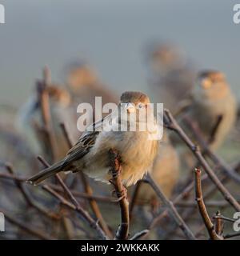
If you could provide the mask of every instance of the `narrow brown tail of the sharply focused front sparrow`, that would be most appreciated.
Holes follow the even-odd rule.
[[[38,183],[44,181],[46,178],[50,178],[54,174],[58,174],[60,171],[64,170],[64,160],[54,163],[54,165],[40,171],[38,174],[35,174],[33,177],[29,178],[26,182],[29,182],[33,185],[38,185]]]

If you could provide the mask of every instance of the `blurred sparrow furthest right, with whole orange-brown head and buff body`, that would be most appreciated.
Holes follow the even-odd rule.
[[[225,75],[211,70],[200,73],[192,98],[193,102],[187,114],[197,122],[206,141],[210,138],[218,118],[222,117],[214,142],[210,144],[212,150],[217,150],[226,135],[230,133],[237,117],[237,104]]]

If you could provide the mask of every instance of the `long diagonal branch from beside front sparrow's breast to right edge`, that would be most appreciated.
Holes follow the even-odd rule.
[[[221,192],[226,201],[229,202],[230,205],[233,206],[235,210],[240,211],[240,205],[238,204],[237,200],[232,196],[232,194],[230,194],[230,191],[227,190],[226,187],[222,185],[222,182],[218,179],[217,175],[214,174],[214,171],[206,162],[205,158],[203,158],[202,153],[199,150],[198,146],[194,145],[194,143],[178,125],[178,122],[174,119],[172,114],[170,114],[169,110],[164,110],[164,124],[168,129],[174,130],[178,134],[178,136],[182,138],[182,140],[186,143],[186,145],[190,148],[195,157],[198,159],[201,166],[206,171],[206,174],[208,174],[209,178],[211,179],[211,181],[214,182],[215,186],[218,187],[218,190]]]

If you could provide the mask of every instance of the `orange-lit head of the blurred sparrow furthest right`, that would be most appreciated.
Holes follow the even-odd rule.
[[[198,74],[194,95],[199,94],[202,97],[218,99],[224,98],[228,92],[229,85],[222,72],[206,70]]]

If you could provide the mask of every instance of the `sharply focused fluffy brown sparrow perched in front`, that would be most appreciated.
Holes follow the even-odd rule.
[[[122,124],[123,109],[121,103],[127,110],[125,115],[127,126],[129,126],[130,122],[130,113],[135,114],[136,131],[115,131]],[[68,170],[72,172],[83,171],[90,178],[109,182],[110,149],[117,150],[120,154],[123,184],[130,186],[138,182],[150,168],[158,152],[158,141],[150,139],[151,132],[138,129],[140,126],[140,108],[145,108],[148,110],[146,113],[153,114],[149,103],[150,99],[141,92],[123,93],[118,104],[117,114],[114,112],[103,118],[102,121],[94,123],[94,130],[86,130],[78,142],[70,149],[66,158],[34,175],[29,179],[29,182],[38,184],[60,171]],[[113,120],[116,122],[113,122]],[[102,126],[104,122],[111,123],[110,130],[98,131],[99,126]],[[154,131],[158,132],[158,127],[155,123],[154,126]]]

